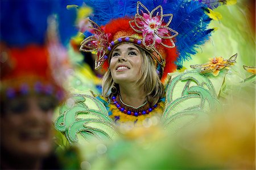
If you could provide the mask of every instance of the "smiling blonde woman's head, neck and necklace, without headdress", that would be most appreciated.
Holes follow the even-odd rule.
[[[109,65],[102,82],[102,94],[105,98],[112,98],[112,102],[123,113],[134,115],[130,121],[135,121],[140,115],[144,115],[143,119],[147,118],[155,107],[160,107],[158,105],[164,97],[164,87],[153,61],[142,48],[126,43],[118,45],[112,52]],[[112,93],[108,94],[110,88]],[[127,116],[118,112],[110,117],[121,122],[127,121]]]

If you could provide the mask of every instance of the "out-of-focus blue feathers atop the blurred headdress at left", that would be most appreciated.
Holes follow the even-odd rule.
[[[66,8],[74,3],[81,5],[82,1],[1,1],[1,41],[19,47],[30,43],[44,44],[48,16],[55,14],[59,17],[61,42],[67,44],[77,32],[74,24],[76,11]]]

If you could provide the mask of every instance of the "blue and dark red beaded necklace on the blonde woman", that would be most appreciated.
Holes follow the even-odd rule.
[[[128,105],[121,105],[121,103],[118,102],[117,96],[112,96],[112,102],[114,103],[114,105],[122,112],[125,113],[127,115],[134,115],[135,117],[138,117],[139,115],[145,115],[145,114],[149,114],[151,111],[153,111],[155,109],[155,107],[158,106],[158,104],[152,106],[152,107],[143,107],[144,105],[146,105],[146,103],[144,103],[142,106],[139,106],[137,108],[134,107],[128,107]],[[142,108],[143,107],[143,108]],[[142,108],[142,109],[141,109]]]

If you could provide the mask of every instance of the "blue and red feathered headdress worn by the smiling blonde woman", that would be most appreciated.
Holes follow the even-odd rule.
[[[205,1],[84,2],[94,10],[88,28],[93,35],[82,41],[80,50],[97,53],[96,69],[108,67],[105,61],[115,45],[133,43],[150,53],[163,81],[213,31],[207,29],[211,19]]]

